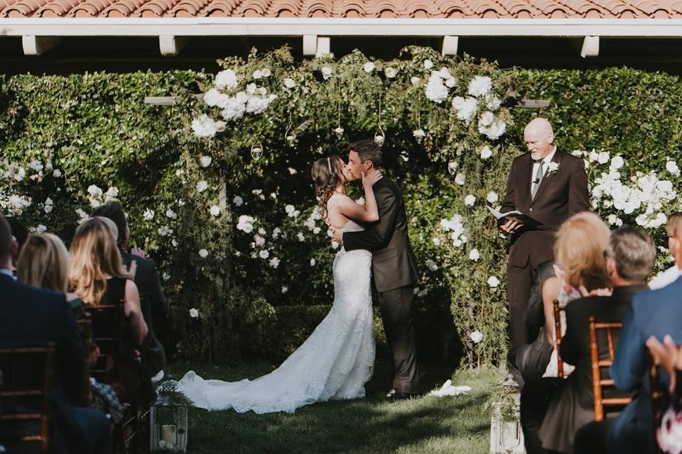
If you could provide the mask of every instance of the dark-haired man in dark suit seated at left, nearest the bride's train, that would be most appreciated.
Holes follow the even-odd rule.
[[[130,231],[125,211],[119,202],[112,201],[99,206],[94,210],[93,216],[102,216],[114,221],[119,231],[117,244],[124,265],[129,267],[133,260],[137,264],[135,284],[140,292],[142,314],[148,328],[147,336],[142,344],[144,360],[150,377],[156,375],[158,380],[161,380],[163,368],[166,367],[166,352],[163,350],[161,342],[155,336],[153,321],[158,321],[168,316],[168,299],[166,299],[166,295],[163,294],[161,289],[161,280],[158,278],[156,264],[150,258],[146,258],[146,255],[141,250],[133,248],[131,252],[128,251]],[[145,304],[148,304],[149,307],[146,307]]]

